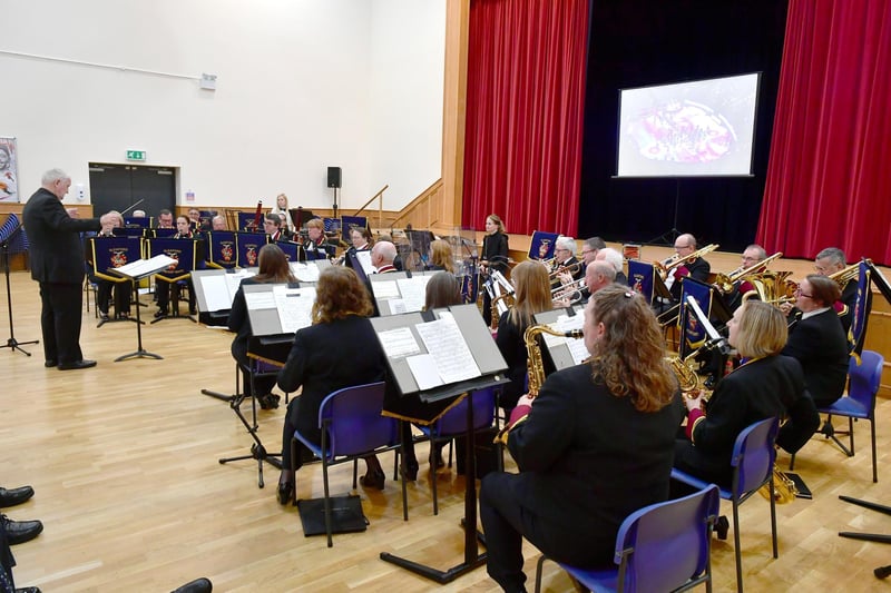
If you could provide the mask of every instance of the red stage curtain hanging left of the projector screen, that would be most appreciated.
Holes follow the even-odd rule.
[[[589,0],[472,0],[462,224],[575,235]]]

